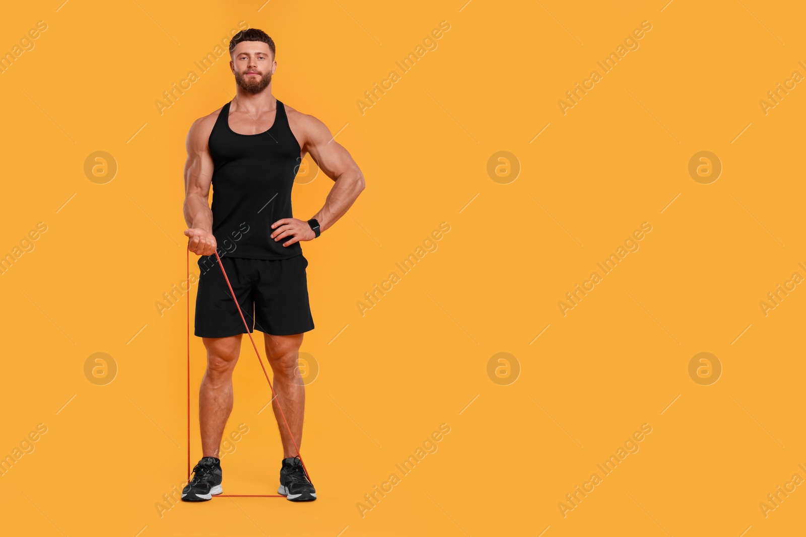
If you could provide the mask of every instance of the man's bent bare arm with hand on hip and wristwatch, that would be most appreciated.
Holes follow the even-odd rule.
[[[334,181],[325,205],[313,216],[319,222],[321,233],[343,217],[364,190],[364,174],[350,153],[334,140],[323,122],[314,116],[303,115],[301,124],[305,133],[303,149],[310,153],[319,169]],[[272,238],[275,241],[289,238],[283,246],[290,246],[298,241],[310,241],[316,237],[308,221],[297,218],[280,218],[272,224],[272,229]]]

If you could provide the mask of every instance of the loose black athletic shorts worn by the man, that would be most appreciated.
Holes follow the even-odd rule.
[[[243,318],[254,329],[274,336],[290,336],[314,329],[308,301],[308,260],[299,254],[289,259],[221,258]],[[229,337],[247,328],[235,307],[218,259],[205,256],[196,295],[197,337]]]

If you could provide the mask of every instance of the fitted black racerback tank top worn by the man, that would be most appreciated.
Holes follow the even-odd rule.
[[[213,235],[233,258],[287,259],[302,253],[299,242],[269,237],[271,225],[291,218],[291,188],[300,162],[300,145],[289,127],[285,105],[277,100],[274,124],[258,134],[230,128],[230,104],[222,106],[210,132],[213,157]]]

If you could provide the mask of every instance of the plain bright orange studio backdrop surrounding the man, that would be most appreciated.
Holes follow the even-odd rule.
[[[802,485],[766,517],[759,503],[806,478],[806,291],[794,284],[766,316],[759,303],[806,276],[806,89],[766,114],[759,101],[806,74],[802,6],[238,3],[56,0],[0,19],[0,52],[47,24],[0,73],[0,254],[30,250],[0,275],[0,456],[47,428],[0,477],[8,531],[796,535]],[[195,288],[162,316],[155,303],[186,277],[185,137],[234,96],[227,56],[162,114],[155,101],[240,21],[276,41],[276,97],[338,133],[367,181],[348,215],[302,245],[316,329],[301,351],[318,366],[302,452],[319,499],[160,510],[185,478]],[[436,48],[401,72],[395,62],[441,21]],[[638,48],[601,70],[643,21]],[[356,101],[392,70],[399,80],[362,114]],[[600,81],[563,114],[558,101],[593,70]],[[111,179],[85,172],[95,151],[116,163]],[[688,171],[700,151],[721,163],[709,184]],[[332,185],[306,174],[301,219]],[[25,242],[39,222],[47,230]],[[442,222],[450,231],[424,246]],[[638,250],[563,316],[558,302],[643,222]],[[433,251],[401,274],[395,263],[418,246]],[[400,281],[362,315],[364,293],[393,271]],[[273,494],[279,438],[258,413],[271,396],[242,349],[226,433],[248,432],[223,458],[224,489]],[[111,357],[111,382],[86,372],[94,353]],[[195,407],[198,338],[191,353]],[[699,353],[716,360],[690,375]],[[437,450],[398,473],[442,423]],[[644,423],[638,451],[601,473]],[[400,482],[362,516],[357,504],[391,473]],[[592,473],[600,483],[563,516],[558,504]]]

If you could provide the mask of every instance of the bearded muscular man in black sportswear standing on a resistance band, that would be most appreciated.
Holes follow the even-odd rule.
[[[186,143],[185,235],[188,249],[202,256],[194,333],[207,349],[207,370],[199,390],[202,460],[182,499],[203,502],[222,494],[218,448],[232,410],[232,371],[247,330],[214,256],[218,250],[249,332],[264,333],[274,373],[272,408],[283,444],[278,493],[310,501],[316,490],[294,447],[294,440],[301,445],[305,409],[297,357],[303,334],[314,328],[301,241],[319,237],[347,213],[364,190],[364,176],[324,123],[272,95],[277,62],[271,37],[256,28],[241,31],[230,41],[230,54],[237,94],[193,122]],[[322,209],[304,221],[292,216],[291,188],[308,153],[334,185]]]

